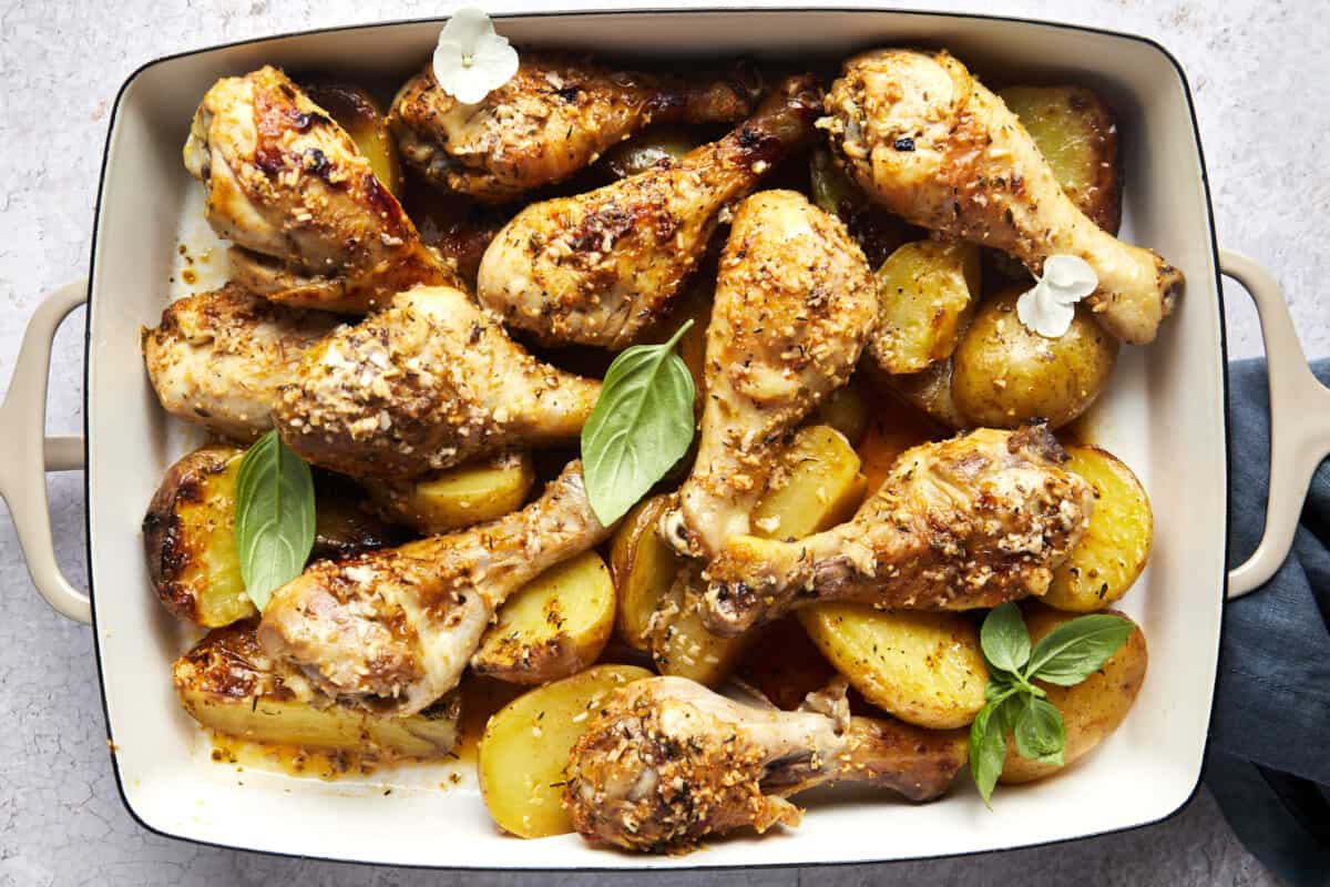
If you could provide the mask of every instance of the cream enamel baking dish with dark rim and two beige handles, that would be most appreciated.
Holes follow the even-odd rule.
[[[219,76],[277,64],[400,82],[428,57],[440,25],[346,28],[192,52],[145,65],[117,97],[90,277],[51,294],[29,326],[0,408],[8,438],[0,444],[0,491],[39,592],[61,613],[94,625],[112,763],[134,818],[170,836],[302,856],[657,868],[976,852],[1140,826],[1181,807],[1200,779],[1225,594],[1258,586],[1287,552],[1307,479],[1330,451],[1330,392],[1306,368],[1275,282],[1252,261],[1216,249],[1190,93],[1166,51],[1077,27],[866,8],[541,13],[501,17],[500,28],[519,47],[630,59],[830,59],[871,45],[926,43],[946,45],[980,77],[1084,82],[1108,97],[1128,169],[1123,237],[1157,249],[1188,278],[1158,342],[1124,351],[1093,420],[1096,443],[1142,477],[1157,517],[1150,567],[1124,600],[1148,632],[1152,658],[1125,725],[1060,778],[1004,789],[996,813],[964,787],[920,807],[858,791],[834,801],[823,794],[806,799],[818,810],[795,831],[718,840],[682,858],[592,850],[572,835],[528,842],[500,835],[479,801],[469,762],[318,782],[210,761],[209,738],[181,711],[170,686],[169,662],[185,637],[146,593],[138,536],[145,503],[190,443],[158,408],[138,352],[140,326],[156,323],[170,297],[177,242],[197,234],[198,186],[181,168],[180,149],[196,104]],[[1257,301],[1274,427],[1266,536],[1232,572],[1221,556],[1228,480],[1221,271]],[[85,299],[85,438],[45,439],[51,338]],[[45,513],[44,472],[80,467],[86,471],[90,600],[60,574]]]

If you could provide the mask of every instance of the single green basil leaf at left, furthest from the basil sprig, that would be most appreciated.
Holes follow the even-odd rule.
[[[263,612],[314,548],[314,479],[277,431],[254,442],[235,473],[235,553],[245,593]]]

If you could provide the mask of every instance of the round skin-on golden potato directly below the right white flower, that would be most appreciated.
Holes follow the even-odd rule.
[[[952,355],[951,396],[968,426],[1067,424],[1095,402],[1117,359],[1117,339],[1076,307],[1065,335],[1045,339],[1016,318],[1015,290],[979,306]]]

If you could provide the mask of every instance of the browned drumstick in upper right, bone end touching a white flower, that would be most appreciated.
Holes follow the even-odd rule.
[[[1085,217],[1001,100],[947,52],[875,49],[845,63],[826,97],[833,153],[871,197],[906,219],[1004,250],[1039,273],[1079,255],[1088,297],[1119,339],[1153,342],[1182,273]]]

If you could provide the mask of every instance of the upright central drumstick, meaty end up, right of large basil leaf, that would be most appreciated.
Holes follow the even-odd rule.
[[[863,251],[797,191],[743,201],[706,330],[706,403],[693,473],[665,517],[681,552],[749,532],[783,435],[845,384],[878,318]]]

